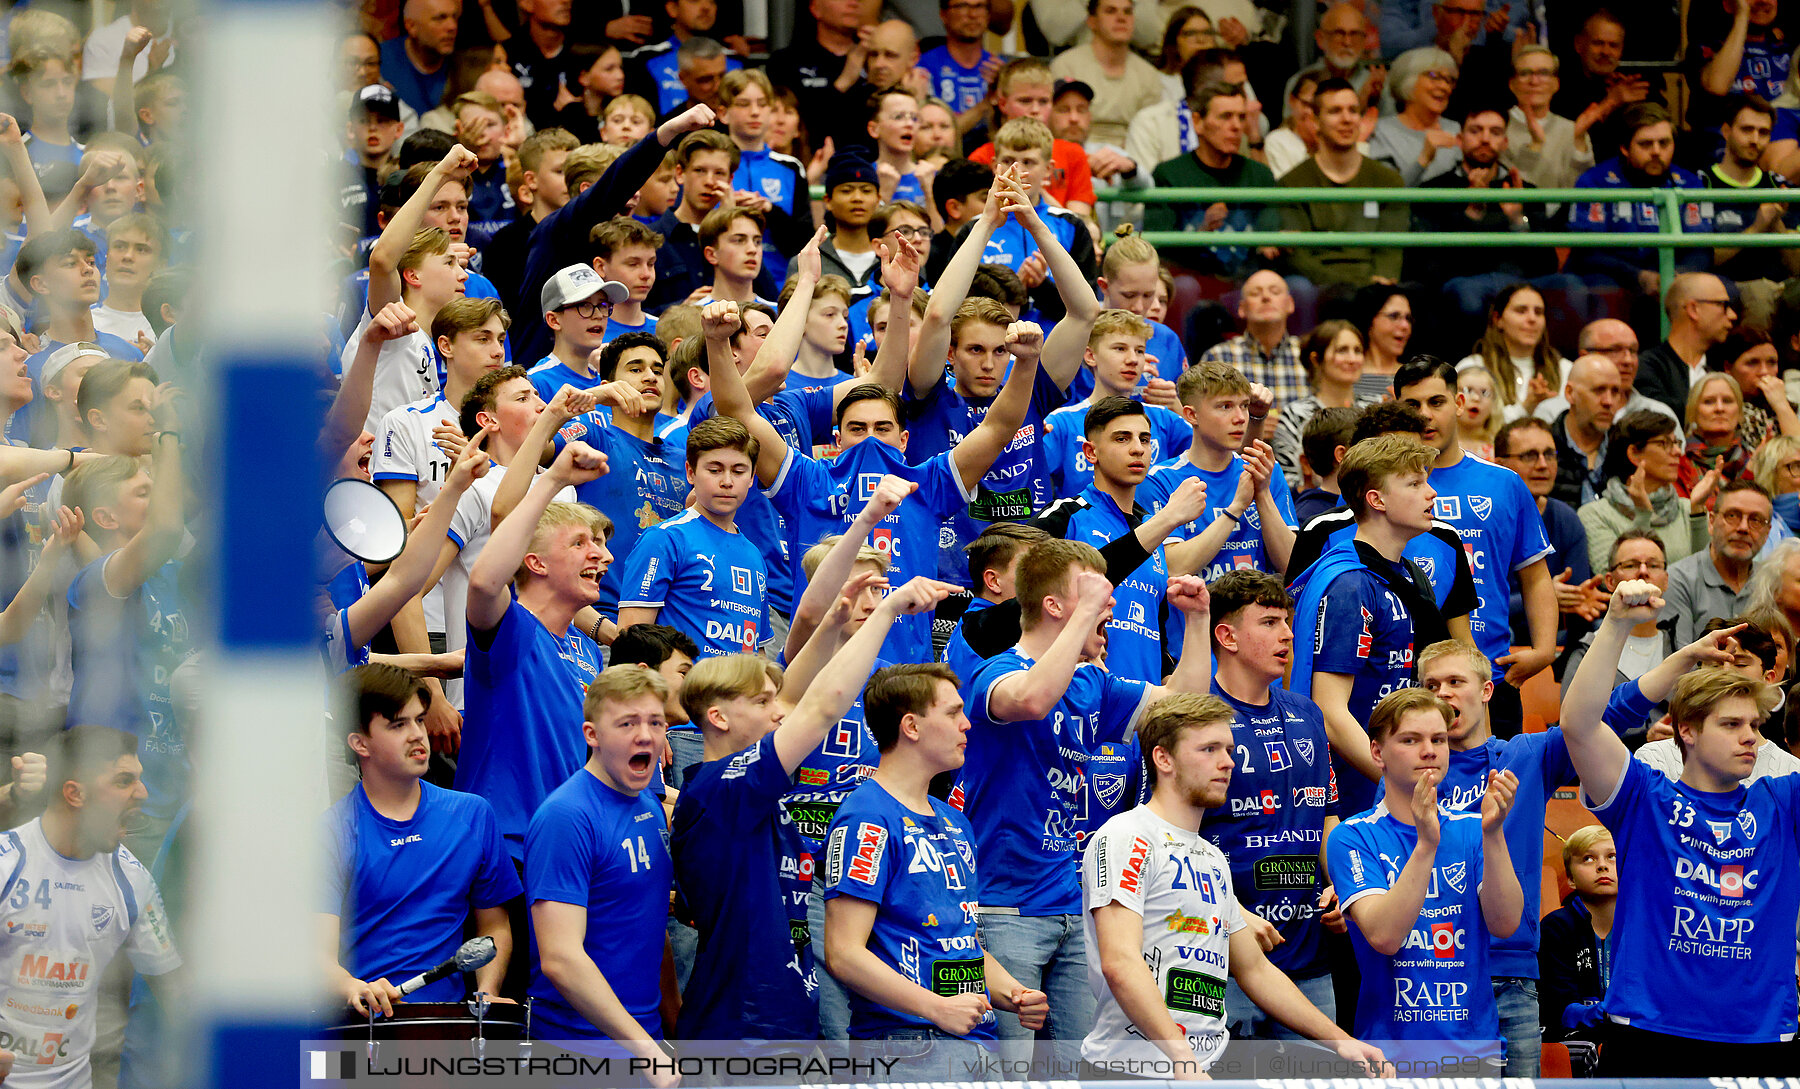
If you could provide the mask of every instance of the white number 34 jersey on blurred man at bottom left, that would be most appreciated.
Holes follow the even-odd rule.
[[[146,976],[182,963],[157,882],[124,848],[65,859],[41,819],[0,835],[0,1048],[18,1057],[7,1089],[86,1089],[106,965],[121,947]]]

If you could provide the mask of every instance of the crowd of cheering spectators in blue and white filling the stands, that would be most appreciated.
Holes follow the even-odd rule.
[[[1800,171],[1800,13],[790,7],[342,11],[270,412],[409,535],[320,536],[324,1017],[1791,1073],[1800,250],[1744,239],[1800,211],[1708,194]],[[115,14],[14,9],[0,81],[18,1085],[182,1080],[193,50]]]

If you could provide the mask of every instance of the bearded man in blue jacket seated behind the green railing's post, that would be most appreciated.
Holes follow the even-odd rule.
[[[1575,180],[1577,189],[1701,189],[1705,182],[1694,171],[1676,166],[1674,119],[1656,103],[1638,103],[1620,119],[1624,137],[1618,155],[1595,166]],[[1656,234],[1658,211],[1652,202],[1584,202],[1570,211],[1570,230],[1606,230],[1624,234]],[[1712,232],[1712,205],[1683,203],[1681,230],[1687,234]],[[1676,266],[1697,272],[1712,263],[1706,250],[1679,250]],[[1584,248],[1570,257],[1570,272],[1593,284],[1618,284],[1625,292],[1660,295],[1663,284],[1658,274],[1656,250]]]

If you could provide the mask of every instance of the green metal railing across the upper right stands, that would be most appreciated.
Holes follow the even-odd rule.
[[[1544,230],[1544,232],[1397,232],[1334,230],[1332,247],[1372,248],[1516,248],[1521,245],[1561,248],[1654,248],[1658,274],[1667,292],[1676,275],[1676,250],[1694,248],[1787,248],[1800,247],[1800,234],[1687,234],[1681,229],[1683,203],[1800,203],[1800,189],[1100,189],[1100,200],[1129,203],[1654,203],[1656,227],[1649,232]],[[1195,247],[1316,247],[1312,230],[1147,230],[1145,241],[1157,248]],[[1229,239],[1229,241],[1226,241]],[[1669,317],[1663,315],[1663,333]]]

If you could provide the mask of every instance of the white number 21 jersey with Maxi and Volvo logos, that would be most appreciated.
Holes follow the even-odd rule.
[[[1244,929],[1231,868],[1199,832],[1177,828],[1139,805],[1087,837],[1082,853],[1082,932],[1094,1030],[1082,1058],[1094,1064],[1168,1062],[1130,1022],[1100,970],[1094,909],[1118,904],[1143,916],[1143,959],[1168,1015],[1208,1067],[1226,1049],[1228,938]],[[1145,1075],[1148,1076],[1148,1075]]]

